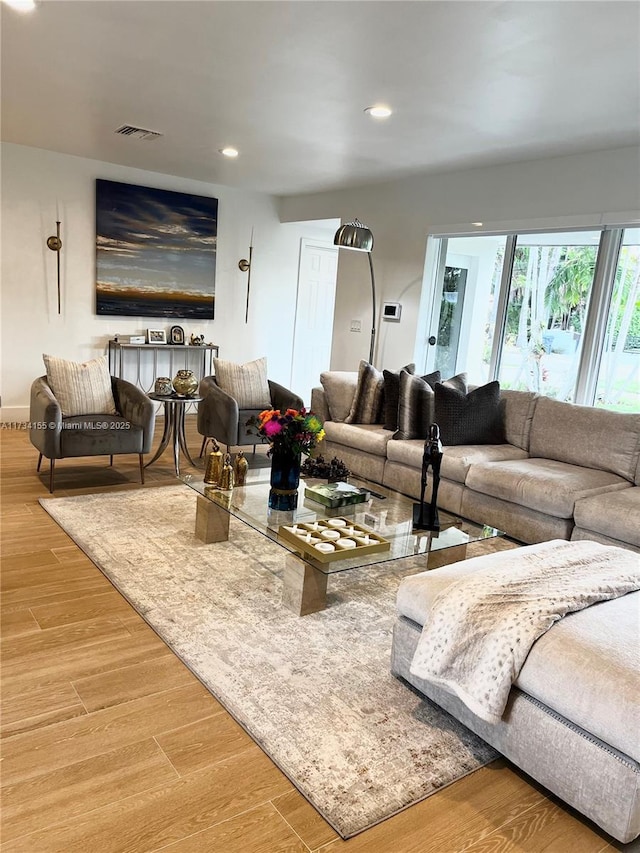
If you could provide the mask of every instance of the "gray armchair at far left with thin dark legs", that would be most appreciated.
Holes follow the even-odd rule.
[[[140,480],[144,483],[143,454],[151,450],[155,426],[155,407],[147,395],[124,379],[111,377],[116,404],[115,415],[74,415],[64,417],[46,376],[31,386],[29,437],[42,457],[49,459],[49,491],[53,492],[56,459],[78,456],[109,456],[137,453]]]

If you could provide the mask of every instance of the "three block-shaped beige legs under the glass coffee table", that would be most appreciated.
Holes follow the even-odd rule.
[[[229,539],[229,513],[201,495],[196,507],[195,535],[202,542],[227,542]],[[426,568],[437,569],[464,560],[466,544],[428,551]],[[296,554],[286,555],[283,575],[282,603],[298,616],[317,613],[327,606],[328,574],[315,569]]]

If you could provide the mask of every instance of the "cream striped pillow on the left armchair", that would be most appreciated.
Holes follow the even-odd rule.
[[[84,362],[67,361],[55,355],[42,358],[47,382],[64,417],[116,413],[106,355]]]

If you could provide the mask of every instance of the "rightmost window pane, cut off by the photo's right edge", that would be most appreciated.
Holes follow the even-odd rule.
[[[640,229],[624,232],[596,386],[596,406],[640,412]]]

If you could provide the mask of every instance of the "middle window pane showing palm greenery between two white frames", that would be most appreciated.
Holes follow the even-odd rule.
[[[572,400],[599,231],[518,235],[498,379]]]

